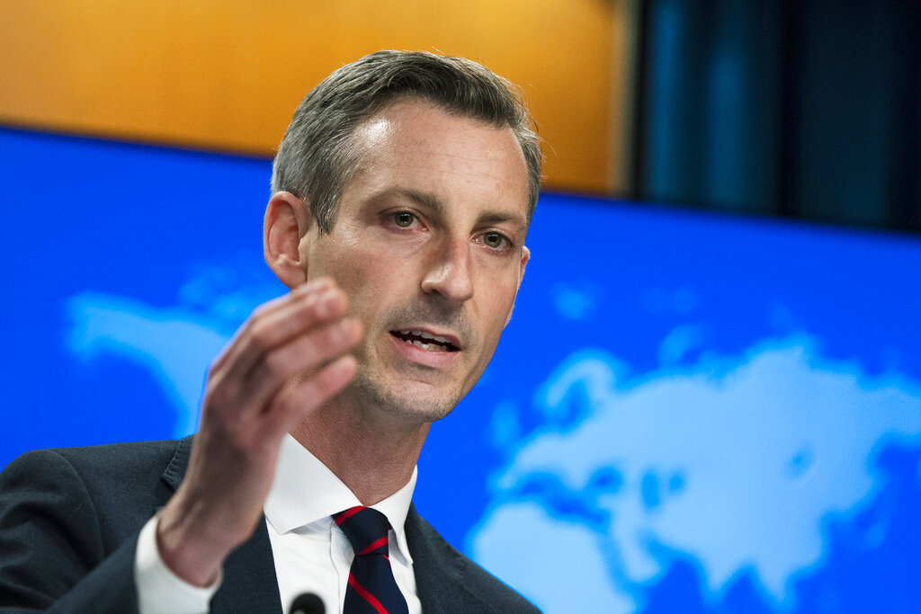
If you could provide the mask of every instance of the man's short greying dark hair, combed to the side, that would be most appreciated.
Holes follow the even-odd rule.
[[[272,191],[309,200],[321,232],[335,223],[358,153],[361,122],[400,98],[421,98],[449,113],[511,128],[528,168],[528,221],[541,190],[541,147],[519,89],[471,60],[429,52],[383,51],[346,64],[304,97],[272,168]]]

